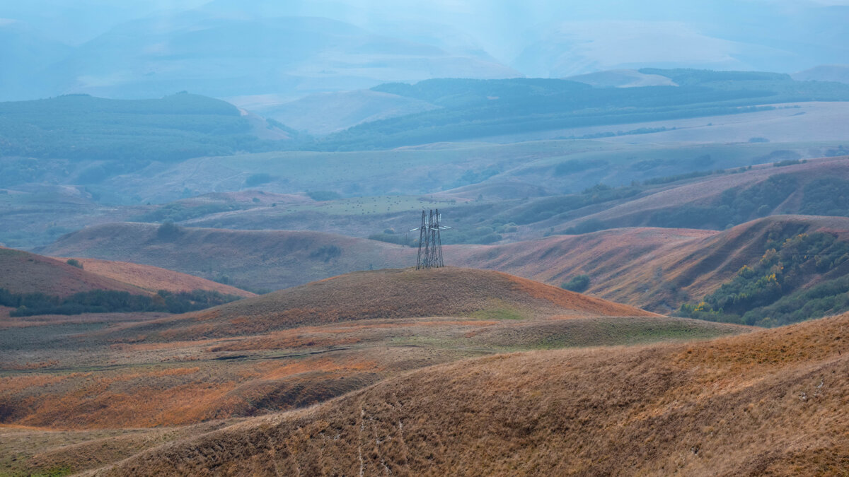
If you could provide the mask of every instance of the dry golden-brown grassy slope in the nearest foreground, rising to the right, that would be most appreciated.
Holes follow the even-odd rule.
[[[457,362],[97,474],[840,475],[847,329],[842,315],[694,344]]]

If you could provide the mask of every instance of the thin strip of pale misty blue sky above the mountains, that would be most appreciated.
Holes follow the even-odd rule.
[[[557,24],[593,21],[603,27],[605,21],[620,21],[616,24],[620,26],[626,25],[622,20],[648,25],[678,22],[694,35],[751,42],[745,28],[739,28],[741,23],[755,29],[774,25],[781,34],[793,35],[792,30],[816,27],[811,11],[846,6],[849,0],[30,0],[0,7],[0,18],[24,20],[48,36],[78,44],[127,20],[205,5],[241,8],[251,14],[325,16],[387,34],[410,28],[441,29],[439,35],[450,36],[447,41],[474,43],[509,63],[533,40],[530,36],[554,31]],[[849,20],[845,11],[836,13],[842,16],[838,20]],[[829,15],[835,12],[824,14]]]

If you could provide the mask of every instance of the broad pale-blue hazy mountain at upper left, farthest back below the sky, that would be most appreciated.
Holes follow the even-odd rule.
[[[372,87],[431,77],[503,78],[493,59],[381,36],[339,20],[220,14],[197,8],[132,20],[46,67],[38,96],[149,98],[190,90],[215,97]],[[8,97],[15,98],[15,97]]]

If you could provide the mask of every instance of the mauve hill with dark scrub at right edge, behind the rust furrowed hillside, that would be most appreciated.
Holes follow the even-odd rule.
[[[722,230],[767,215],[849,216],[849,203],[841,194],[849,185],[846,156],[804,163],[795,158],[790,151],[773,153],[772,165],[672,182],[673,187],[650,190],[619,204],[610,202],[604,210],[580,218],[571,219],[576,214],[570,210],[537,227],[554,226],[555,233],[589,223],[596,229],[610,224]]]

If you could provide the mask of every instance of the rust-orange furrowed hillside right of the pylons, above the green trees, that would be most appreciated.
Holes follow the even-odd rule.
[[[813,232],[849,239],[849,218],[769,216],[722,232],[620,228],[516,244],[453,246],[446,256],[458,265],[546,283],[586,273],[592,278],[588,294],[663,313],[710,294],[740,267],[756,263],[770,239]]]

